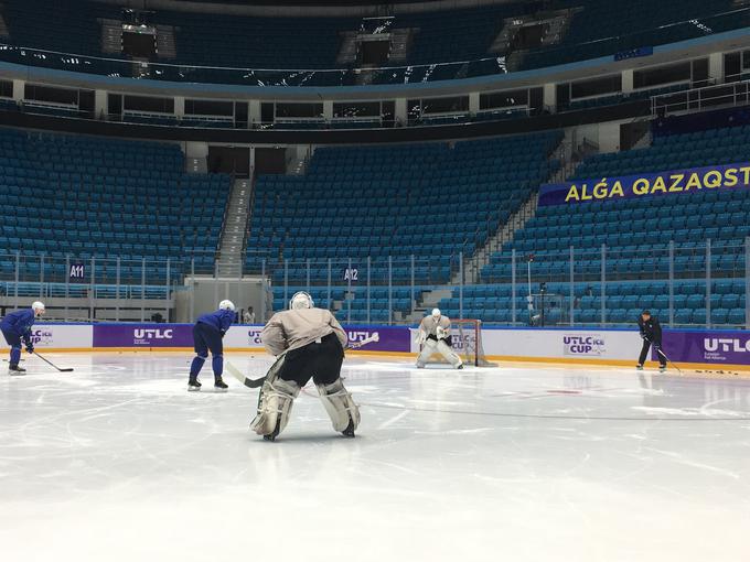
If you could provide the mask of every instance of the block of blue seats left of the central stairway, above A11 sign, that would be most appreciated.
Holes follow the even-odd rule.
[[[10,158],[2,158],[10,154],[12,165]],[[199,267],[207,266],[211,271],[229,176],[185,174],[183,170],[178,144],[0,129],[0,204],[19,217],[30,208],[30,201],[35,207],[33,217],[4,223],[0,246],[26,258],[94,256],[101,263],[116,256],[124,262],[128,278],[124,281],[141,281],[125,264],[141,259],[149,261],[148,274],[160,283],[165,282],[167,270],[156,263],[165,263],[167,258],[173,260],[174,274],[185,272],[176,264],[189,262],[192,256]],[[22,177],[25,181],[19,182]],[[51,217],[54,228],[39,228],[39,215]],[[38,267],[28,263],[23,270],[35,275]],[[60,259],[45,263],[45,279],[61,275],[54,269],[60,267]],[[109,271],[114,271],[111,263],[94,273]]]

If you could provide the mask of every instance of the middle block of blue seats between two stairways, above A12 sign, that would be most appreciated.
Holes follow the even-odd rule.
[[[389,279],[406,290],[444,287],[459,255],[473,255],[557,170],[549,155],[561,138],[318,149],[303,175],[258,177],[246,269],[259,272],[265,251],[276,288],[331,280],[347,317],[354,301],[353,320],[388,320],[383,293],[372,296],[375,317],[367,315],[367,272],[378,290]],[[362,275],[351,288],[347,268]],[[395,299],[404,316],[414,311],[410,294]]]

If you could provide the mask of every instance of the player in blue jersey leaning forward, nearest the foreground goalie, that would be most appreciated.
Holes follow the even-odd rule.
[[[224,371],[224,345],[222,338],[226,331],[235,320],[235,306],[232,301],[222,301],[218,303],[216,312],[210,312],[199,316],[197,322],[193,326],[193,342],[195,345],[195,357],[190,366],[190,380],[188,381],[188,390],[201,390],[201,383],[197,381],[197,375],[201,372],[203,364],[208,358],[208,350],[213,359],[211,366],[214,369],[214,388],[219,391],[227,389],[226,383],[222,380],[222,372]]]

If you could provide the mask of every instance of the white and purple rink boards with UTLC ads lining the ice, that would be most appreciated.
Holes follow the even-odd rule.
[[[34,345],[47,350],[191,350],[192,324],[36,324]],[[224,346],[260,352],[261,326],[232,326]],[[352,342],[374,333],[379,342],[362,353],[411,355],[418,352],[416,329],[406,326],[346,326]],[[4,343],[4,342],[3,342]],[[484,354],[495,360],[631,365],[642,341],[633,329],[483,328]],[[456,346],[460,348],[461,343]],[[676,363],[750,369],[750,332],[665,329],[664,349]],[[652,358],[655,356],[652,354]]]

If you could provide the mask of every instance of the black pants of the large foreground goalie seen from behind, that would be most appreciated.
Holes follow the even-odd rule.
[[[287,352],[279,378],[293,380],[303,387],[312,378],[315,385],[331,385],[341,376],[344,349],[335,334],[329,334],[320,344],[312,343]]]

